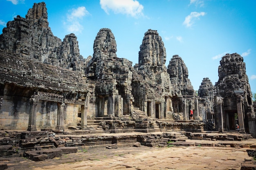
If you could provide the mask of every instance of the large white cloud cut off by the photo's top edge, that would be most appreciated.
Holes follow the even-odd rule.
[[[114,13],[131,15],[132,17],[143,16],[143,5],[137,0],[100,0],[101,8],[107,13],[108,10]]]

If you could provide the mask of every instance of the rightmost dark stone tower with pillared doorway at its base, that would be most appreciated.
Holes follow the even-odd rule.
[[[239,126],[240,132],[255,134],[252,92],[243,57],[237,53],[226,54],[220,60],[218,72],[219,80],[215,85],[218,130],[236,130]]]

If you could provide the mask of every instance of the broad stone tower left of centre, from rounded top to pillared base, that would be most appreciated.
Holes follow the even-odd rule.
[[[97,33],[93,44],[93,57],[85,68],[88,79],[97,80],[95,96],[99,116],[122,116],[132,109],[132,62],[116,55],[117,44],[110,29]]]

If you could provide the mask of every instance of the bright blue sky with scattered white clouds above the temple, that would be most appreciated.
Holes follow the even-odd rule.
[[[13,17],[25,18],[38,0],[0,0],[0,30]],[[93,54],[101,28],[117,42],[117,57],[138,63],[139,46],[148,29],[157,30],[166,48],[166,66],[179,55],[198,90],[202,79],[218,81],[226,53],[244,57],[256,93],[256,0],[45,0],[49,26],[58,38],[75,33],[80,54]]]

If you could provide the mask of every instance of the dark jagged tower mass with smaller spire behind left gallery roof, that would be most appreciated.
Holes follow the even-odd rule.
[[[76,36],[66,35],[61,42],[48,25],[45,2],[34,3],[26,18],[17,15],[14,21],[7,23],[7,28],[0,35],[0,49],[74,71],[83,69]]]

